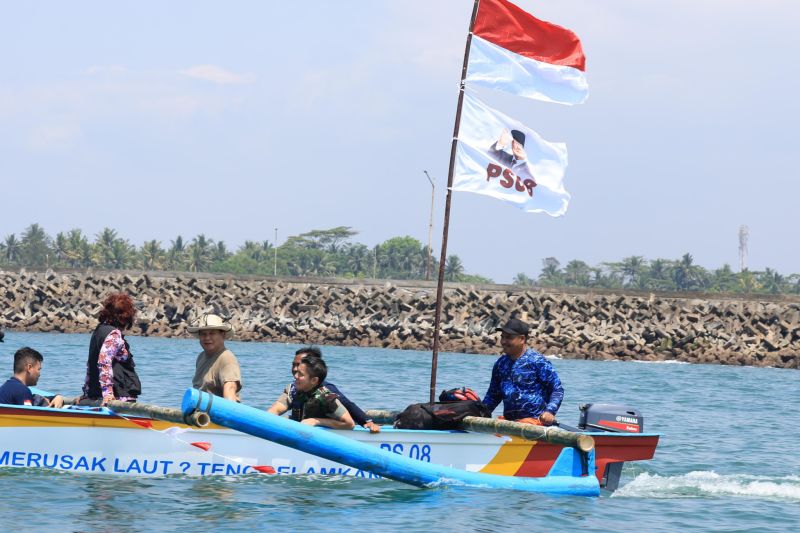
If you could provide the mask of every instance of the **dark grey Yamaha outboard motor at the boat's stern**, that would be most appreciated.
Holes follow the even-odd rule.
[[[627,405],[611,403],[584,403],[578,406],[580,419],[578,428],[582,431],[609,431],[615,433],[642,433],[644,432],[644,417],[638,409]],[[608,491],[615,491],[619,487],[619,478],[622,475],[624,462],[609,463],[600,487]]]

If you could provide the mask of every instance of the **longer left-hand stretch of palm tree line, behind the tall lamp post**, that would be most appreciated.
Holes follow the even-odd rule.
[[[393,237],[374,247],[353,242],[358,232],[347,226],[313,230],[289,237],[280,246],[269,240],[245,241],[230,250],[224,241],[203,234],[191,240],[178,235],[164,245],[156,239],[131,244],[106,227],[90,240],[81,229],[51,237],[31,224],[19,237],[12,233],[0,243],[0,266],[38,268],[142,269],[184,272],[257,274],[263,276],[430,279],[439,261],[413,237]],[[428,266],[430,265],[430,266]],[[491,283],[470,275],[457,255],[445,261],[448,281]]]

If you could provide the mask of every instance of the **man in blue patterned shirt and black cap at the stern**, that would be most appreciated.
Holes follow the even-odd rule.
[[[512,318],[500,332],[503,355],[492,368],[492,381],[483,403],[494,411],[503,402],[506,420],[525,420],[549,426],[564,399],[564,388],[553,365],[542,354],[528,348],[530,326]]]

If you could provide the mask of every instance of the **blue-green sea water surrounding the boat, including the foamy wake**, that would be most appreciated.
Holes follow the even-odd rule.
[[[200,347],[194,339],[130,337],[143,402],[178,407]],[[14,351],[44,354],[39,386],[80,392],[88,335],[8,332],[0,376]],[[242,400],[267,407],[291,380],[299,345],[227,343],[239,358]],[[329,379],[363,408],[426,401],[430,354],[323,346]],[[483,394],[495,358],[440,354],[438,389]],[[798,531],[800,373],[669,363],[553,359],[566,391],[559,419],[578,404],[641,410],[662,435],[652,461],[629,463],[620,489],[600,498],[486,489],[419,489],[341,476],[128,478],[0,469],[0,525],[28,531]],[[497,414],[497,413],[496,413]]]

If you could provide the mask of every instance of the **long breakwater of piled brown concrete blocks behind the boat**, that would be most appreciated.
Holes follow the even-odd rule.
[[[428,350],[430,282],[271,279],[163,272],[0,271],[0,326],[88,332],[100,302],[137,302],[130,333],[188,336],[198,315],[227,315],[240,340]],[[531,344],[566,358],[676,360],[800,368],[800,300],[448,284],[442,351],[496,354],[495,328],[527,320]]]

